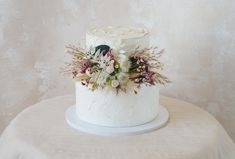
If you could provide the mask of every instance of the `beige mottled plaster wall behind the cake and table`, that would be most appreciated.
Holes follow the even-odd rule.
[[[73,93],[64,44],[90,27],[145,26],[166,49],[162,94],[211,112],[235,140],[235,1],[0,0],[0,130],[22,109]]]

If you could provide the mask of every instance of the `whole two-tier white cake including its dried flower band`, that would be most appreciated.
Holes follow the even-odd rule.
[[[149,48],[149,32],[138,27],[103,27],[86,33],[86,48],[68,46],[76,79],[76,114],[87,123],[131,127],[159,113],[157,70],[162,50]],[[153,56],[154,55],[154,56]]]

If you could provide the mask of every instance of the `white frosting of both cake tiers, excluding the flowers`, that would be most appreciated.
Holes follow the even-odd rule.
[[[86,34],[86,47],[108,45],[127,53],[137,46],[148,47],[149,33],[142,28],[106,27]],[[76,82],[76,109],[80,119],[97,125],[126,127],[152,121],[158,115],[159,87],[142,86],[138,94],[131,91],[91,90]]]

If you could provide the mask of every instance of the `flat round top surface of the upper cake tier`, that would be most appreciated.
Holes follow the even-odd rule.
[[[139,38],[148,34],[148,31],[139,27],[124,27],[124,26],[108,26],[98,29],[92,29],[87,32],[88,35],[104,37],[104,38]]]

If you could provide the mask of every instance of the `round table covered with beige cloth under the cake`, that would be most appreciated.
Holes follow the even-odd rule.
[[[78,132],[64,119],[72,95],[37,103],[20,113],[0,138],[1,159],[235,159],[235,145],[206,111],[161,97],[166,126],[134,136]]]

